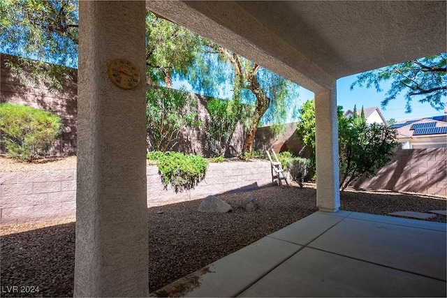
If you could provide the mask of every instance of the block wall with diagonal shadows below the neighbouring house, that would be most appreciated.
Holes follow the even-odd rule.
[[[447,195],[447,148],[396,149],[393,161],[375,177],[354,186]]]

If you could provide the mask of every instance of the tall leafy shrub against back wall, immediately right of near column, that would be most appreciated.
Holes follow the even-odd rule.
[[[147,135],[150,149],[169,151],[182,129],[190,131],[202,124],[196,100],[184,91],[149,88],[146,94]]]

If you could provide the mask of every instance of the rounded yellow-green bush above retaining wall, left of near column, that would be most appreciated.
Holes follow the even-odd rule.
[[[60,117],[27,105],[0,105],[0,131],[8,154],[23,161],[33,161],[48,153],[59,135]]]

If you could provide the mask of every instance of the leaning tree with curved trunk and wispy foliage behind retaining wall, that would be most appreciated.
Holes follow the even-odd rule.
[[[296,95],[298,85],[209,40],[204,40],[204,43],[207,54],[217,55],[217,61],[232,66],[233,77],[230,80],[228,77],[223,79],[233,84],[233,100],[253,107],[246,115],[247,135],[242,149],[251,151],[261,119],[265,117],[267,121],[284,122],[287,111],[293,108],[293,97]],[[208,68],[205,67],[206,70],[202,71],[210,73],[210,65],[212,66],[208,63],[206,65]]]

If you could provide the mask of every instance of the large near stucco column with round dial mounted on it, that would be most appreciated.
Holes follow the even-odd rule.
[[[149,295],[145,1],[80,1],[75,297]],[[140,68],[116,87],[108,64]]]

